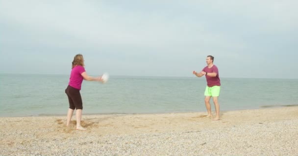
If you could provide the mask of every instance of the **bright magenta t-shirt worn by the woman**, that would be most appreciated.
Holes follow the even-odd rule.
[[[83,66],[80,66],[80,65],[75,66],[72,69],[71,77],[69,78],[68,84],[78,90],[81,90],[81,85],[84,79],[81,74],[84,72],[85,72],[85,68]]]

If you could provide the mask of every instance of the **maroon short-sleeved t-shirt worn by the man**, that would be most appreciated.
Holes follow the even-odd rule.
[[[220,76],[218,73],[217,66],[213,65],[211,68],[208,68],[208,66],[206,66],[202,71],[207,72],[207,73],[216,73],[217,74],[216,77],[209,77],[208,74],[206,75],[208,87],[221,86],[221,79],[220,79]]]

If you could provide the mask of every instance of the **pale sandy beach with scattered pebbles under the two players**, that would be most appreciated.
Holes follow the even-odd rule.
[[[0,156],[297,156],[298,107],[221,112],[0,117]]]

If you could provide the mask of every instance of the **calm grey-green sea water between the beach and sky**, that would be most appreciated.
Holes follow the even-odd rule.
[[[69,75],[0,74],[0,117],[66,115]],[[298,79],[221,78],[221,111],[298,104]],[[204,112],[205,78],[83,81],[83,114]],[[212,110],[214,105],[211,100]]]

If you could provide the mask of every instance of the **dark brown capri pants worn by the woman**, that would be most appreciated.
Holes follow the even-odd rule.
[[[70,109],[83,109],[83,102],[80,90],[68,85],[65,89],[65,93],[68,97]]]

